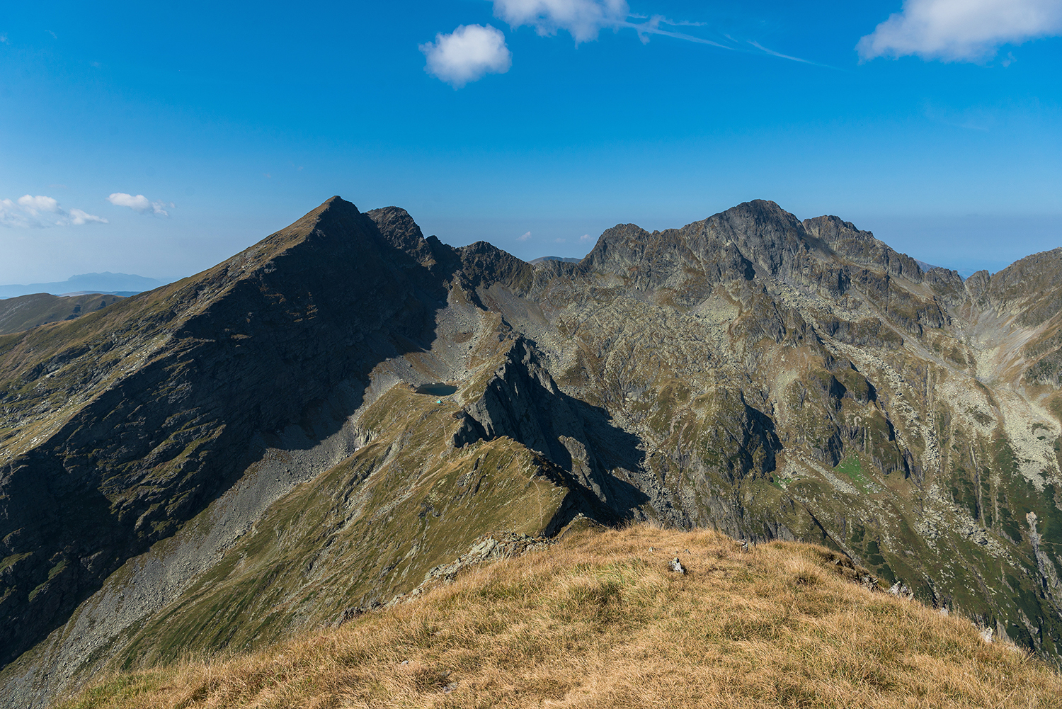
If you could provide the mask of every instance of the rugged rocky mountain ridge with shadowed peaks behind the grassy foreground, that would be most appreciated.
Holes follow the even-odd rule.
[[[1058,662],[1062,250],[750,202],[578,264],[332,198],[0,337],[0,697],[252,647],[578,514],[824,543]]]

